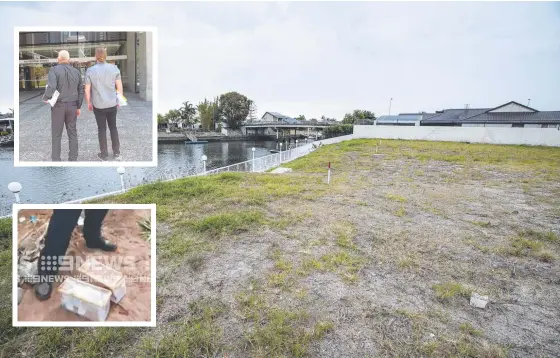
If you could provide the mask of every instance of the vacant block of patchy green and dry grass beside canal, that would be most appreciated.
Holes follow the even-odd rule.
[[[105,199],[158,205],[158,327],[13,329],[2,293],[0,355],[560,355],[560,148],[352,140],[285,166]]]

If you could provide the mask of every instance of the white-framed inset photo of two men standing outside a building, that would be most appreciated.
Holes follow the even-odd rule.
[[[14,166],[157,166],[157,29],[16,27]]]

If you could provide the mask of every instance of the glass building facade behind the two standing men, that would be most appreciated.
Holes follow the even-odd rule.
[[[44,89],[49,69],[57,64],[58,52],[67,50],[71,64],[85,76],[95,64],[95,49],[107,49],[107,62],[121,70],[125,88],[138,92],[136,32],[21,32],[19,34],[19,89]],[[132,67],[134,70],[130,70]],[[132,78],[129,78],[132,77]]]

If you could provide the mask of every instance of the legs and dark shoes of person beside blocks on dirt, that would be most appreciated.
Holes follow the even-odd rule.
[[[90,249],[115,251],[117,246],[101,236],[101,225],[107,215],[107,209],[86,209],[83,234],[86,246]],[[51,297],[54,276],[66,255],[72,231],[78,223],[81,209],[55,209],[49,221],[45,238],[45,247],[39,257],[39,283],[35,285],[35,296],[41,301]],[[45,264],[46,263],[46,264]]]

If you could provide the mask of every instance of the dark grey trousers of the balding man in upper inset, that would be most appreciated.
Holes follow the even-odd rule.
[[[51,132],[52,132],[52,152],[53,162],[60,161],[60,141],[62,131],[66,126],[68,134],[68,160],[78,160],[78,130],[76,129],[76,111],[78,107],[75,102],[59,102],[51,107]]]

